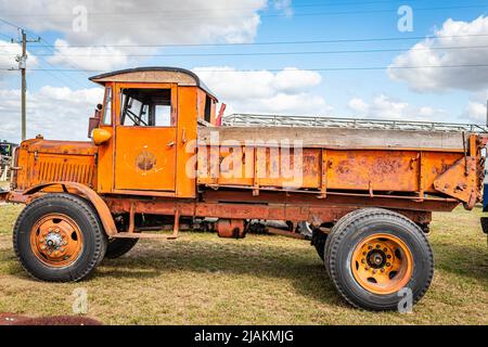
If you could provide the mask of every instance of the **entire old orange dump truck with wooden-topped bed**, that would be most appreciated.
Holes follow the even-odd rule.
[[[235,239],[262,227],[311,240],[351,305],[397,309],[431,284],[432,213],[481,198],[481,128],[328,118],[272,126],[256,116],[220,126],[216,97],[192,72],[136,68],[91,80],[105,88],[91,141],[24,141],[11,190],[0,193],[26,204],[13,244],[39,280],[82,280],[139,239],[172,240],[195,223]]]

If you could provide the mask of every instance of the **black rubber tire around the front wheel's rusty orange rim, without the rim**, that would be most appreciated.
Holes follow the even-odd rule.
[[[39,260],[30,246],[36,223],[50,214],[69,217],[79,227],[82,247],[74,262],[53,267]],[[107,237],[100,218],[86,200],[72,194],[48,194],[27,205],[15,222],[13,247],[24,269],[35,279],[48,282],[75,282],[86,279],[102,261]]]

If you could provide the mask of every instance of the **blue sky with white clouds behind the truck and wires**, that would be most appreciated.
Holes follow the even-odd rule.
[[[0,18],[25,27],[30,38],[41,36],[43,40],[40,44],[29,44],[29,68],[52,69],[50,72],[31,70],[28,74],[29,93],[33,94],[29,101],[29,116],[34,119],[29,130],[30,136],[37,132],[48,134],[54,132],[56,119],[53,118],[53,113],[57,114],[56,117],[63,117],[66,114],[65,117],[73,128],[78,123],[85,125],[88,114],[94,106],[91,103],[98,94],[91,89],[95,86],[90,83],[87,77],[97,73],[60,70],[78,67],[87,70],[106,70],[144,65],[206,68],[206,73],[201,73],[202,77],[207,79],[209,87],[215,89],[224,102],[230,104],[231,112],[484,121],[483,107],[488,97],[488,67],[437,68],[437,72],[404,69],[396,78],[388,74],[387,68],[308,72],[308,74],[306,70],[335,67],[387,67],[402,54],[403,61],[397,64],[403,66],[428,65],[432,64],[428,63],[431,60],[436,59],[441,59],[444,62],[441,64],[448,65],[459,64],[459,62],[481,64],[483,53],[487,53],[488,48],[450,50],[449,47],[488,47],[488,37],[479,37],[483,34],[488,35],[488,20],[485,21],[484,17],[488,11],[488,1],[216,0],[202,4],[194,0],[163,3],[144,0],[145,7],[138,5],[136,10],[114,7],[110,1],[63,1],[62,5],[49,0],[37,1],[40,4],[33,4],[35,2],[26,0],[20,2],[25,4],[13,5],[11,1],[0,0]],[[88,10],[89,33],[85,36],[72,33],[73,7],[77,4],[82,4]],[[410,5],[413,9],[413,31],[411,33],[398,30],[397,24],[400,16],[397,10],[400,5]],[[154,13],[151,13],[153,9]],[[449,20],[452,23],[442,30]],[[442,36],[438,30],[442,30],[444,35],[462,36],[467,33],[474,36],[458,41],[454,39],[444,42],[437,39],[424,43],[427,48],[434,48],[432,51],[422,51],[424,55],[419,55],[415,51],[409,52],[414,44],[422,44],[423,40],[407,38]],[[16,37],[15,28],[7,24],[0,24],[0,40]],[[274,46],[191,46],[158,49],[132,47],[121,51],[117,48],[118,44],[126,43],[129,46],[221,44],[369,38],[399,38],[400,40]],[[67,47],[64,51],[62,51],[63,44]],[[94,48],[90,51],[91,44]],[[115,47],[101,48],[103,44]],[[447,49],[442,50],[442,48]],[[98,54],[93,54],[93,49],[99,50]],[[134,53],[147,55],[235,54],[382,49],[399,51],[297,55],[130,56]],[[15,47],[12,50],[15,50]],[[100,54],[100,50],[108,51]],[[67,52],[69,57],[60,52]],[[92,54],[88,63],[87,52]],[[5,68],[9,64],[15,66],[12,51],[9,53],[0,50],[0,67]],[[111,59],[108,59],[110,55],[112,55]],[[80,63],[80,59],[85,61]],[[113,62],[110,62],[111,60]],[[290,67],[296,68],[297,73],[280,75],[280,70]],[[242,69],[260,73],[255,73],[255,79],[253,79],[249,77],[253,73],[236,72]],[[269,70],[268,74],[261,77],[260,74],[266,70]],[[479,80],[471,82],[467,77],[472,75],[479,77]],[[424,78],[425,81],[422,81]],[[256,87],[257,90],[261,87],[266,89],[262,97],[249,91],[254,89],[253,83],[259,85],[264,80],[267,80],[266,85]],[[295,87],[292,88],[287,83]],[[3,107],[0,106],[0,117],[9,123],[8,126],[0,126],[0,139],[17,140],[20,124],[15,118],[18,113],[15,107],[15,92],[18,90],[18,74],[4,72],[2,76],[0,73],[0,98],[5,101]],[[5,106],[7,103],[8,106]],[[82,132],[85,128],[84,131],[68,131],[65,138],[78,139]]]

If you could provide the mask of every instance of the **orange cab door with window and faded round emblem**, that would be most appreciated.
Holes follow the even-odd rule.
[[[117,85],[115,190],[175,192],[176,83]]]

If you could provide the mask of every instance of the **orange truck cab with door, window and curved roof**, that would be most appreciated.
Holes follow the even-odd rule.
[[[195,197],[185,146],[196,141],[198,121],[215,124],[217,104],[200,78],[181,68],[150,67],[90,79],[105,88],[92,132],[99,147],[97,191]]]

